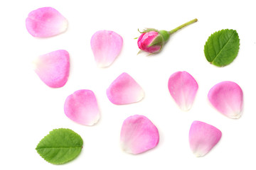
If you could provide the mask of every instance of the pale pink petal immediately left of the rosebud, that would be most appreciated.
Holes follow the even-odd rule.
[[[108,67],[119,55],[123,40],[111,30],[99,30],[90,41],[92,52],[98,67]]]

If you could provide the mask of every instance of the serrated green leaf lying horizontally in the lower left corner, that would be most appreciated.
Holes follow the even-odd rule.
[[[51,164],[65,164],[78,157],[82,138],[70,129],[55,129],[38,143],[38,154]]]

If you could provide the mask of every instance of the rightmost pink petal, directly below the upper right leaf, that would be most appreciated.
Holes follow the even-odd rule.
[[[233,81],[223,81],[208,93],[210,103],[228,118],[240,118],[242,113],[242,89]]]

